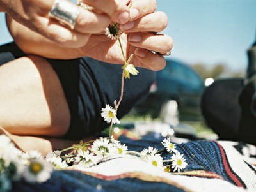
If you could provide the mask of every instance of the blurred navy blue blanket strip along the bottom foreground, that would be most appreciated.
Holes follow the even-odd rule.
[[[100,188],[99,188],[100,185]],[[97,189],[98,186],[98,190]],[[44,184],[27,184],[25,182],[16,182],[13,184],[12,191],[183,191],[175,186],[164,182],[147,182],[136,178],[115,179],[106,181],[98,179],[81,172],[74,171],[55,171],[49,181]]]

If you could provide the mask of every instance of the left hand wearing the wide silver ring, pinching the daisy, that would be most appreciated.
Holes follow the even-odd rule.
[[[79,8],[80,13],[74,30],[49,19],[48,13],[54,0],[0,0],[1,8],[14,20],[36,33],[42,34],[61,47],[76,48],[86,45],[90,34],[103,31],[111,20],[124,24],[129,20],[129,9],[122,0],[83,0],[94,11]],[[3,5],[3,6],[2,6]],[[101,14],[99,14],[101,13]]]

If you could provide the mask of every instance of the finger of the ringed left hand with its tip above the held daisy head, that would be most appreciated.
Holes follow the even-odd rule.
[[[129,18],[129,8],[125,1],[122,0],[83,0],[84,3],[93,6],[95,10],[106,13],[113,22],[119,24],[126,23]]]

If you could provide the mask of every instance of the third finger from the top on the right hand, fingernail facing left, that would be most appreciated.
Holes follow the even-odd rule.
[[[172,50],[173,40],[166,34],[129,33],[127,41],[134,47],[145,48],[160,54]]]

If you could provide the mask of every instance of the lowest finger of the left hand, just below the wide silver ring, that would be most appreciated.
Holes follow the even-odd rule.
[[[42,34],[49,40],[54,41],[61,47],[78,48],[86,45],[90,34],[83,34],[77,31],[71,31],[63,27],[55,20],[49,20],[45,17],[40,17],[34,22],[38,33]]]

